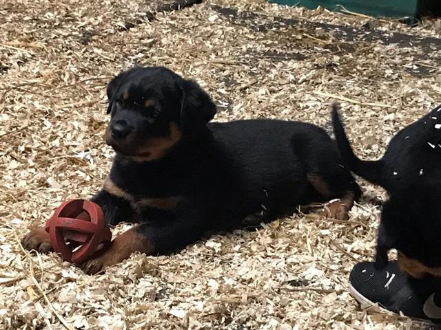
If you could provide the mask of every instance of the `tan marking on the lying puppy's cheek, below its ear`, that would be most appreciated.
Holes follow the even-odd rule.
[[[135,162],[150,162],[164,157],[174,144],[181,140],[181,131],[175,122],[170,122],[170,135],[168,137],[153,137],[139,148],[138,153],[148,153],[147,156],[132,156]]]

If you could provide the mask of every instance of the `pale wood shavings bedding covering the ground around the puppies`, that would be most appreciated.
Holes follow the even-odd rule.
[[[0,329],[65,329],[61,322],[72,329],[427,329],[361,310],[349,296],[355,260],[373,259],[378,201],[387,198],[362,180],[364,197],[349,221],[296,214],[215,234],[171,256],[134,254],[96,276],[54,254],[21,250],[29,226],[102,186],[114,155],[103,141],[105,86],[132,65],[165,65],[196,79],[216,100],[220,122],[280,118],[329,130],[334,97],[365,159],[380,157],[398,129],[441,99],[439,19],[410,29],[263,0],[157,10],[180,2],[2,1]],[[387,41],[400,33],[409,36]]]

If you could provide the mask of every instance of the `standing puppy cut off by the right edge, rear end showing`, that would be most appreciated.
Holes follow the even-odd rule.
[[[386,265],[398,250],[398,263],[415,278],[441,276],[441,105],[399,131],[376,161],[360,160],[347,139],[338,107],[332,121],[340,154],[353,173],[387,190],[375,265]]]

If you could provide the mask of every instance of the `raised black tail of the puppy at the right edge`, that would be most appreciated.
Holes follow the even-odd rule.
[[[338,151],[340,151],[340,155],[349,170],[373,184],[383,186],[383,164],[381,159],[376,161],[361,160],[353,153],[351,144],[347,140],[345,128],[340,120],[340,115],[338,115],[338,104],[336,102],[332,103],[332,125],[334,126]]]

